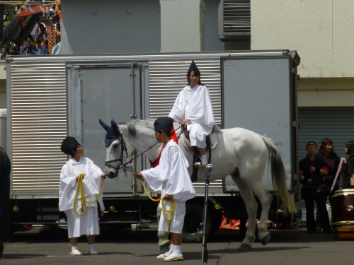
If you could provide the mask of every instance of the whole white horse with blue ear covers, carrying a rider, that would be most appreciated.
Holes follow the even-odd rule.
[[[130,160],[127,157],[132,152],[132,148],[139,152],[144,152],[144,155],[150,160],[155,161],[161,151],[161,144],[156,143],[154,136],[154,121],[147,120],[132,120],[116,124],[111,121],[111,126],[104,124],[100,120],[101,125],[106,131],[115,131],[115,137],[111,136],[108,139],[110,143],[106,146],[106,167],[105,174],[110,177],[118,177],[118,168],[124,161]],[[180,124],[174,124],[175,129],[180,127]],[[176,134],[180,133],[181,129],[176,130]],[[118,135],[121,136],[118,137]],[[258,204],[253,194],[256,195],[261,202],[262,212],[261,219],[258,224],[258,237],[263,245],[266,245],[270,240],[269,232],[267,231],[266,220],[268,218],[270,203],[273,197],[263,187],[262,177],[265,171],[265,165],[270,160],[270,172],[272,182],[277,192],[278,201],[282,202],[284,211],[287,214],[296,213],[295,203],[287,192],[286,175],[280,153],[270,139],[259,134],[242,128],[223,129],[216,132],[219,137],[219,143],[212,150],[212,165],[214,169],[210,175],[210,181],[222,179],[227,175],[231,175],[232,179],[239,187],[239,192],[246,204],[246,210],[249,215],[249,227],[247,228],[246,237],[239,249],[251,249],[251,243],[255,240],[256,230],[256,212]],[[181,147],[185,157],[190,165],[193,161],[193,154],[186,150],[182,144],[185,136],[181,134],[179,146]],[[127,146],[127,154],[122,151],[122,146]],[[151,149],[149,149],[151,146]],[[147,151],[147,149],[149,149]],[[188,168],[191,175],[193,167]],[[200,167],[198,170],[198,179],[203,179],[205,168]]]

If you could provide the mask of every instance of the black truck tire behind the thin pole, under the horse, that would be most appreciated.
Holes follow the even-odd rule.
[[[184,243],[198,242],[198,228],[202,223],[202,204],[185,204],[185,218],[182,230],[182,241]],[[209,208],[208,208],[209,210]],[[207,212],[207,234],[212,234],[212,217],[210,211]],[[215,232],[215,231],[214,231]],[[201,238],[200,238],[201,240]]]

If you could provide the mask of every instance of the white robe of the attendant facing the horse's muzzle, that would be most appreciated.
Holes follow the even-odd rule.
[[[86,174],[83,179],[86,201],[93,201],[99,193],[102,170],[89,158],[81,157],[79,162],[70,158],[62,167],[59,184],[59,211],[64,211],[67,215],[68,232],[70,237],[80,237],[81,235],[99,235],[97,202],[86,203],[86,212],[82,216],[74,213],[74,197],[76,194],[76,176]],[[76,211],[81,213],[80,193],[76,199]],[[101,211],[104,210],[102,196],[98,199]]]

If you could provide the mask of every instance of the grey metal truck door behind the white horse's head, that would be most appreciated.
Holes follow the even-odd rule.
[[[105,130],[98,123],[102,119],[110,124],[141,119],[141,68],[137,65],[122,64],[110,66],[74,66],[73,83],[77,83],[72,94],[74,134],[81,141],[84,156],[104,170],[105,167]],[[78,120],[79,119],[79,120]],[[141,160],[135,162],[137,170],[142,170]],[[137,188],[134,177],[129,171],[120,171],[115,179],[105,179],[105,196],[135,194]],[[138,188],[139,189],[139,188]],[[141,190],[141,189],[139,189]]]

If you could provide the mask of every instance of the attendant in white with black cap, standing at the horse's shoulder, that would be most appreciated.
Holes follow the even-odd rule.
[[[164,207],[171,208],[171,198],[174,199],[175,209],[171,220],[171,247],[169,252],[160,254],[157,259],[164,261],[183,260],[181,253],[181,233],[185,216],[185,201],[195,197],[195,190],[188,174],[188,161],[178,144],[171,139],[172,119],[160,117],[154,123],[155,137],[159,143],[164,143],[159,165],[135,173],[135,177],[149,184],[155,192],[165,197]],[[161,202],[159,204],[161,207]],[[163,210],[162,210],[163,211]],[[169,213],[166,213],[169,216]],[[159,220],[159,232],[167,232],[169,223],[161,215]]]

